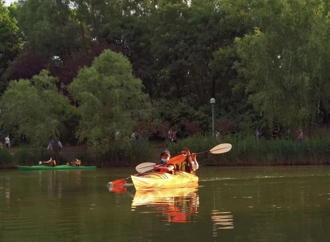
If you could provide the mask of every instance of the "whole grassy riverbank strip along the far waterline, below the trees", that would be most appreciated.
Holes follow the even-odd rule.
[[[200,166],[276,166],[276,165],[329,165],[330,136],[304,139],[301,142],[285,139],[254,139],[254,137],[195,135],[180,139],[176,143],[133,142],[126,149],[117,149],[112,154],[93,155],[84,145],[64,147],[59,152],[60,164],[79,158],[84,166],[135,167],[143,162],[157,162],[161,150],[167,149],[172,157],[183,147],[191,152],[202,152],[212,147],[230,143],[232,149],[224,154],[200,154]],[[36,165],[39,160],[54,158],[46,149],[13,148],[0,150],[0,168],[14,168],[16,165]]]

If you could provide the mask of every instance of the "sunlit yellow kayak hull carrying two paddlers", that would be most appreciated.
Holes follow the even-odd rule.
[[[177,171],[175,175],[163,172],[151,172],[142,176],[130,176],[136,191],[160,188],[181,188],[196,186],[198,177]]]

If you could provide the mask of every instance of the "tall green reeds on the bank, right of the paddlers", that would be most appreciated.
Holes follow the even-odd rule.
[[[253,165],[328,165],[330,164],[330,136],[317,139],[256,140],[254,137],[196,135],[169,144],[172,156],[182,147],[191,152],[207,151],[221,143],[232,148],[223,154],[200,154],[200,165],[253,166]]]

